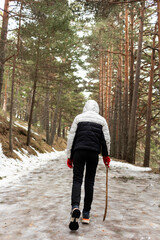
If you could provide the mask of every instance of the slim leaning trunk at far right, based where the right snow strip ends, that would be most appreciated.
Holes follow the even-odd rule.
[[[144,154],[144,167],[149,167],[150,161],[150,142],[151,142],[151,105],[152,105],[152,86],[154,79],[154,66],[155,66],[155,39],[156,39],[157,25],[155,26],[155,34],[153,37],[152,56],[151,56],[151,71],[150,71],[150,82],[147,102],[147,127],[146,127],[146,144]]]

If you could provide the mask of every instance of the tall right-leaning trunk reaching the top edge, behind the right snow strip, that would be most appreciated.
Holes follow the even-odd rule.
[[[133,91],[131,118],[130,118],[130,124],[129,124],[128,149],[127,149],[127,161],[130,163],[133,162],[133,153],[134,153],[133,146],[134,146],[134,135],[135,135],[134,131],[135,131],[135,122],[136,122],[135,116],[136,116],[136,109],[137,109],[138,88],[139,88],[139,79],[140,79],[145,2],[142,2],[141,5],[142,6],[141,6],[141,16],[140,16],[136,77],[135,77],[135,84],[134,84],[134,91]]]

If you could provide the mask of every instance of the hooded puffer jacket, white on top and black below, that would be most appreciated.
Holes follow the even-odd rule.
[[[99,115],[96,101],[86,102],[83,113],[74,119],[67,140],[67,157],[72,159],[78,149],[110,154],[110,134],[106,120]]]

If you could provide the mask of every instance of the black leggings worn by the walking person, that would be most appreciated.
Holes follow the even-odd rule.
[[[89,150],[76,150],[73,155],[73,186],[72,206],[80,204],[81,185],[83,181],[84,166],[85,173],[85,198],[84,211],[90,211],[93,200],[94,179],[98,165],[98,153]]]

